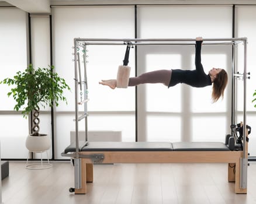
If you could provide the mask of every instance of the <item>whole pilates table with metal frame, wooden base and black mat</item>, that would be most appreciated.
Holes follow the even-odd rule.
[[[194,39],[104,39],[104,38],[74,38],[74,50],[87,50],[88,45],[193,45]],[[247,193],[247,166],[248,166],[248,133],[251,129],[246,124],[246,81],[247,81],[247,38],[206,38],[204,44],[233,45],[232,78],[242,78],[243,94],[243,124],[240,125],[240,144],[236,135],[226,136],[226,142],[87,142],[87,72],[86,55],[84,61],[84,80],[81,79],[81,64],[79,52],[74,53],[75,64],[75,143],[68,146],[62,156],[74,159],[75,194],[87,193],[87,182],[93,181],[94,163],[227,163],[228,181],[235,182],[236,194]],[[236,70],[237,44],[244,45],[244,73],[234,73]],[[78,78],[79,72],[79,78]],[[84,99],[78,101],[78,89],[84,85]],[[234,82],[232,82],[234,92]],[[232,94],[232,112],[235,99]],[[84,104],[84,114],[78,115],[78,105]],[[85,119],[85,141],[78,140],[78,122]],[[234,124],[232,114],[231,124]],[[239,126],[239,125],[238,125]],[[232,128],[232,126],[231,126]],[[234,128],[234,126],[233,126]],[[248,130],[249,129],[249,130]],[[244,136],[243,136],[244,133]]]

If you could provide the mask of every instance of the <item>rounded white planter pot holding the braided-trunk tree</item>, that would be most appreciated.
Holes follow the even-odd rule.
[[[31,136],[26,139],[26,147],[30,152],[44,152],[51,147],[51,139],[48,135]]]

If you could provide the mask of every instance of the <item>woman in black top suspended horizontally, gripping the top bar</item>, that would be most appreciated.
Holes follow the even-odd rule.
[[[162,83],[165,86],[171,87],[178,83],[185,83],[192,87],[205,87],[213,84],[212,99],[213,102],[216,102],[224,95],[224,90],[227,86],[227,72],[224,69],[212,68],[208,75],[206,75],[201,64],[202,41],[202,37],[196,38],[195,70],[162,69],[146,72],[140,76],[129,78],[128,86],[137,86],[143,83]],[[111,89],[116,88],[116,83],[116,79],[102,80],[102,82],[99,82],[99,84],[109,86]]]

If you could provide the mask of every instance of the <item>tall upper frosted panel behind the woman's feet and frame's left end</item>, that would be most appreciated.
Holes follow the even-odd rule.
[[[68,105],[60,104],[57,111],[74,111],[74,50],[73,40],[81,38],[133,38],[133,6],[89,6],[53,8],[54,65],[71,86],[65,92]],[[95,15],[96,13],[96,15]],[[117,17],[118,16],[118,17]],[[120,25],[125,25],[120,27]],[[134,110],[134,89],[110,90],[98,84],[101,79],[115,79],[117,68],[123,64],[126,47],[88,45],[88,91],[92,101],[89,110]],[[134,75],[134,50],[129,65]]]

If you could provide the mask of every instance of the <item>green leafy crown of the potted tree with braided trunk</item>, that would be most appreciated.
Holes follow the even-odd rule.
[[[46,105],[53,107],[54,103],[58,106],[58,101],[67,103],[63,90],[70,90],[70,87],[53,71],[54,66],[34,69],[33,65],[29,65],[25,71],[17,72],[13,78],[1,81],[0,84],[13,86],[7,95],[16,101],[14,110],[22,110],[23,117],[27,117],[32,111],[38,111],[39,114],[40,105],[45,108]]]

